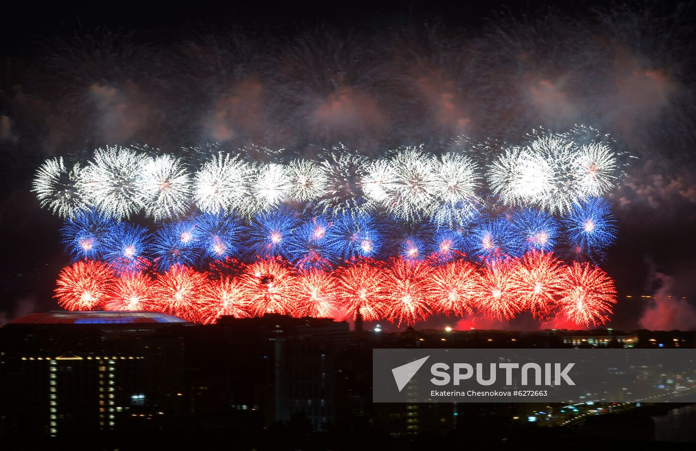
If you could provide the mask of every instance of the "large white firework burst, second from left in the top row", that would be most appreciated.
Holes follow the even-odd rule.
[[[93,161],[81,171],[77,189],[104,214],[127,219],[143,207],[139,177],[150,159],[118,145],[97,149]]]

